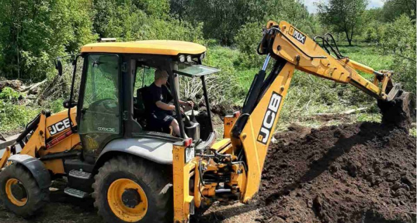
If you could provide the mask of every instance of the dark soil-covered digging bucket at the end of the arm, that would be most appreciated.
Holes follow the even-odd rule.
[[[410,128],[413,118],[416,117],[414,105],[415,99],[412,99],[412,94],[402,90],[391,101],[378,100],[382,122],[406,129]]]

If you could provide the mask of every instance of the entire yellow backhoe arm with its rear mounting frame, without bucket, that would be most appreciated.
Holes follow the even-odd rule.
[[[174,146],[175,223],[187,222],[194,206],[204,208],[214,201],[246,203],[257,193],[268,146],[295,69],[351,84],[380,102],[392,101],[402,94],[401,85],[392,83],[392,71],[375,71],[353,61],[329,40],[334,41],[331,34],[313,40],[285,21],[268,22],[258,48],[259,54],[267,55],[265,62],[254,76],[241,113],[224,118],[224,139],[205,152],[196,151],[190,161],[186,145]],[[273,67],[266,75],[272,60]],[[358,71],[373,74],[373,81]]]

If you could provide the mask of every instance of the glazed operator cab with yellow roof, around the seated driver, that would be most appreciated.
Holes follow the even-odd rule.
[[[192,138],[197,150],[212,145],[216,133],[210,117],[205,76],[219,69],[202,65],[205,55],[204,46],[182,41],[105,42],[83,46],[77,56],[83,58],[78,102],[72,100],[71,90],[66,105],[77,106],[77,126],[71,128],[80,136],[84,159],[91,160],[88,158],[91,157],[91,161],[96,160],[103,149],[121,138],[139,139],[141,142],[136,143],[143,144],[142,148],[148,148],[146,150],[150,152],[153,151],[151,147],[169,144],[172,148],[172,143],[183,141],[185,135]],[[168,99],[165,103],[176,108],[179,137],[171,135],[170,129],[156,128],[149,121],[150,95],[147,88],[154,81],[156,69],[168,73],[167,84],[162,90]],[[186,108],[185,113],[180,112],[178,99],[187,99],[180,91],[180,83],[186,81],[185,78],[201,80],[197,83],[201,84],[204,97],[195,104],[204,103],[206,111]],[[73,84],[74,75],[72,88]],[[149,142],[152,142],[150,147],[145,145]],[[167,158],[166,162],[171,159]]]

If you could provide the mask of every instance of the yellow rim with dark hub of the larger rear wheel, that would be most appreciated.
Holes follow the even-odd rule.
[[[107,202],[112,212],[125,222],[138,222],[146,215],[148,207],[146,194],[142,187],[127,178],[115,180],[110,184],[107,191]]]

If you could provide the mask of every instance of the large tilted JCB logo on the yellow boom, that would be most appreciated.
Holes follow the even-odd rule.
[[[271,100],[267,112],[265,113],[261,130],[258,134],[258,141],[265,145],[267,144],[267,141],[270,137],[275,118],[277,117],[279,104],[281,104],[281,98],[282,97],[278,95],[277,92],[272,92]]]

